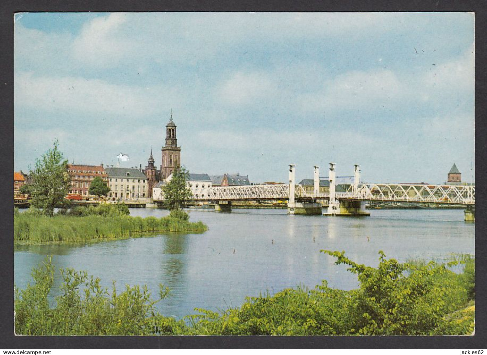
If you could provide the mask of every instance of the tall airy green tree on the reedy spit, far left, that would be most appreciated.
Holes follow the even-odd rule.
[[[32,183],[28,187],[31,195],[31,206],[42,208],[47,216],[54,215],[54,207],[66,203],[65,196],[69,191],[70,178],[66,165],[68,161],[58,149],[58,141],[36,159],[34,170],[30,171]]]

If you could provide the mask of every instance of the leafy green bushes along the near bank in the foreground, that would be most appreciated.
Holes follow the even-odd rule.
[[[155,303],[168,297],[160,286],[151,299],[146,287],[118,292],[85,272],[66,269],[61,296],[50,308],[54,266],[34,270],[34,284],[15,294],[19,335],[470,335],[474,330],[475,269],[470,256],[445,263],[387,259],[376,268],[357,264],[343,252],[323,250],[358,276],[360,287],[342,291],[326,281],[314,289],[285,289],[247,298],[240,307],[176,320]],[[451,269],[462,266],[460,273]],[[80,289],[83,291],[81,292]],[[83,295],[83,296],[82,296]],[[170,294],[169,294],[170,297]]]

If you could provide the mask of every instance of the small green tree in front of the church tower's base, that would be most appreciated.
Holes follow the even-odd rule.
[[[193,193],[187,187],[189,172],[186,168],[176,168],[172,172],[172,178],[162,187],[164,202],[169,210],[181,209],[193,197]]]

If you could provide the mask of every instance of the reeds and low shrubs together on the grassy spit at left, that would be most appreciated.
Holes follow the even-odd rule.
[[[154,232],[204,232],[202,222],[189,222],[186,212],[180,210],[168,217],[131,217],[124,204],[77,206],[59,210],[53,217],[30,208],[14,212],[14,242],[81,243],[101,239],[140,236]]]

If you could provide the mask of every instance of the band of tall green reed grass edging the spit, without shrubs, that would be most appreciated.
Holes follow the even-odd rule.
[[[127,238],[153,232],[204,232],[202,222],[188,222],[175,218],[131,217],[99,215],[32,216],[16,213],[14,242],[17,243],[79,243],[96,239]]]

